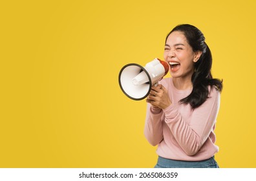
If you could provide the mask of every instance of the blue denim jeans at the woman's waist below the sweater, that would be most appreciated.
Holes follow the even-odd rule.
[[[155,168],[219,168],[214,156],[202,161],[171,160],[158,156]]]

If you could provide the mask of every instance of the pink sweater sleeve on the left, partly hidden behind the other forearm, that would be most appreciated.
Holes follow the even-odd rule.
[[[147,141],[155,146],[163,140],[162,109],[154,109],[147,103],[144,134]]]

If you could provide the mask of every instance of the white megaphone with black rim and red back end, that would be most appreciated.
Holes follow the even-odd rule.
[[[123,93],[132,100],[143,100],[149,95],[152,85],[167,74],[169,65],[158,58],[142,67],[136,63],[125,65],[119,73],[118,81]]]

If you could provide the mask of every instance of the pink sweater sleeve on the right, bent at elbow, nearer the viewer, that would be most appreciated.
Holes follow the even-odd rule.
[[[163,110],[165,123],[176,142],[188,155],[197,154],[213,131],[219,112],[220,92],[211,89],[208,100],[191,112],[189,120],[182,117],[175,104]]]

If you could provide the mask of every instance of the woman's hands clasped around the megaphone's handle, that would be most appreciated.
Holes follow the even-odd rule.
[[[165,109],[171,105],[168,91],[161,84],[151,87],[151,91],[149,92],[146,101],[151,103],[153,107],[159,107],[160,109]]]

